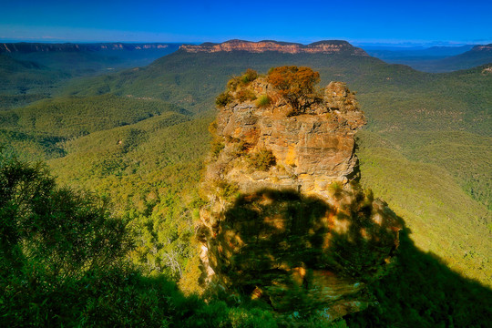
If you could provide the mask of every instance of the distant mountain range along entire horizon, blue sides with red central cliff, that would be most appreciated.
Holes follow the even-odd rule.
[[[223,43],[180,44],[180,43],[0,43],[0,54],[18,60],[34,62],[41,66],[62,67],[84,71],[81,62],[90,62],[89,71],[111,67],[140,67],[150,64],[160,56],[177,50],[188,53],[215,53],[242,51],[249,53],[278,52],[285,54],[335,54],[374,56],[390,64],[403,64],[416,70],[439,73],[477,67],[492,62],[492,45],[432,46],[428,48],[405,48],[398,46],[356,47],[343,40],[323,40],[309,45],[274,40],[251,42],[229,40]],[[44,54],[59,54],[46,59]],[[70,55],[71,54],[71,55]],[[78,56],[83,56],[82,58]],[[76,57],[71,57],[76,56]],[[91,57],[91,56],[97,56]],[[104,56],[104,58],[101,58]],[[47,61],[46,61],[47,60]],[[101,66],[100,63],[105,65]],[[85,64],[84,64],[85,65]],[[87,65],[86,65],[87,66]],[[86,72],[87,73],[87,72]]]

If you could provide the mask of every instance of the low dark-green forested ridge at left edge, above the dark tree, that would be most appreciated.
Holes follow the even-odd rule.
[[[182,117],[190,114],[160,100],[113,95],[44,99],[0,112],[0,144],[19,159],[53,159],[66,154],[67,139],[169,112]]]

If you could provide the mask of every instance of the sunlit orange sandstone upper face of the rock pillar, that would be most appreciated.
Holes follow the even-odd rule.
[[[267,92],[268,86],[261,81],[251,85],[259,96]],[[343,85],[332,83],[324,91],[322,104],[299,115],[291,115],[292,108],[281,99],[268,108],[257,108],[251,101],[220,110],[217,133],[226,139],[222,157],[237,147],[227,140],[240,140],[248,153],[271,150],[277,163],[268,171],[249,171],[241,165],[248,166],[247,162],[238,162],[224,179],[237,183],[245,192],[259,188],[290,189],[316,192],[326,198],[331,182],[347,182],[355,173],[354,133],[364,126],[364,115],[359,110],[344,111],[336,104],[354,101]]]

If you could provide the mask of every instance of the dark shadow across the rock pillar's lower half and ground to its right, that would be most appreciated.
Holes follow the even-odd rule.
[[[319,295],[296,293],[296,289],[312,287],[310,272],[333,272],[348,282],[366,282],[364,295],[348,292],[344,296],[373,304],[343,316],[349,327],[492,327],[492,291],[451,271],[435,254],[418,250],[405,221],[391,219],[395,214],[385,217],[382,227],[374,227],[371,213],[387,209],[376,207],[368,198],[364,192],[354,197],[342,213],[350,228],[343,234],[332,231],[326,249],[325,236],[332,229],[324,223],[326,218],[335,212],[335,217],[343,218],[323,200],[278,190],[242,195],[224,213],[210,244],[216,255],[214,269],[225,276],[223,282],[246,295],[261,286],[263,296],[270,293],[264,297],[267,301],[280,296],[282,303],[271,304],[283,313],[299,311],[304,302],[309,309],[326,305]],[[403,230],[394,254],[392,234],[384,231],[394,227],[395,221]],[[377,242],[364,241],[367,233],[377,236]],[[391,254],[393,263],[386,267],[384,260]],[[377,279],[382,267],[387,272]],[[307,272],[298,285],[289,276],[297,268]],[[345,289],[343,283],[335,284],[336,288]],[[273,298],[272,285],[282,286]]]

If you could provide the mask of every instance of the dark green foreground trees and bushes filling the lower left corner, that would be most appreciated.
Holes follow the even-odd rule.
[[[0,181],[1,326],[291,326],[254,303],[206,303],[163,276],[144,277],[125,260],[125,222],[57,187],[40,164],[3,158]]]

